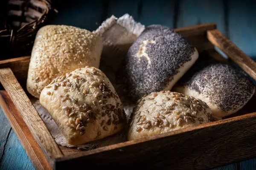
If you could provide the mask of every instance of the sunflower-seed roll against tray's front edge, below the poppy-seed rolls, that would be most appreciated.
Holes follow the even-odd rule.
[[[128,140],[193,127],[210,120],[212,111],[200,99],[170,91],[153,92],[138,100]]]

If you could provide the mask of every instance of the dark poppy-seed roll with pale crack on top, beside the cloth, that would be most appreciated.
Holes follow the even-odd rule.
[[[166,26],[145,28],[128,50],[123,62],[122,91],[136,101],[144,94],[171,90],[198,59],[198,51]]]

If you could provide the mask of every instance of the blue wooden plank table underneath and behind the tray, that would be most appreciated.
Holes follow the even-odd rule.
[[[95,30],[114,14],[131,14],[148,26],[163,24],[170,28],[216,23],[218,29],[242,51],[256,60],[255,0],[93,0],[67,4],[52,0],[59,13],[52,24]],[[23,147],[0,109],[0,170],[32,170]],[[214,170],[256,170],[256,158],[228,164]]]

